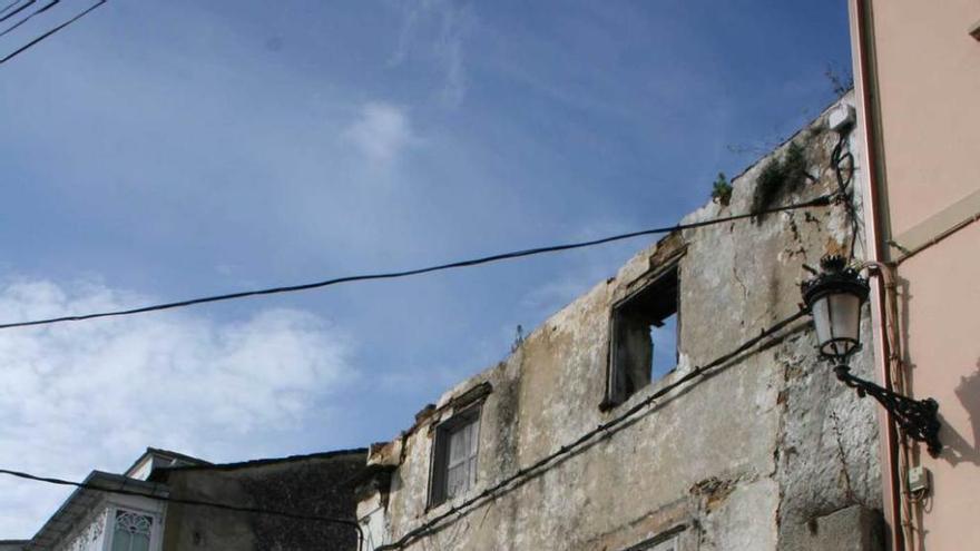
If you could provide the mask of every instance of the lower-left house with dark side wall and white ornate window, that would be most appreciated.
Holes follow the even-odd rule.
[[[356,549],[352,525],[175,503],[302,512],[354,522],[350,481],[366,450],[212,464],[147,449],[122,474],[94,471],[28,541],[11,551],[193,551]],[[128,492],[121,494],[116,492]]]

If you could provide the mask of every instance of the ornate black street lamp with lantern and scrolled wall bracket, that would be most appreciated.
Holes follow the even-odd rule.
[[[939,403],[913,400],[851,374],[847,358],[861,347],[861,305],[868,299],[868,281],[840,256],[824,257],[822,272],[803,283],[803,301],[813,316],[817,350],[832,362],[837,380],[860,397],[871,395],[884,406],[904,434],[923,442],[933,457],[939,455]]]

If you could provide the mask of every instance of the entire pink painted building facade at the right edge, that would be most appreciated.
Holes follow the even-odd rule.
[[[980,193],[980,0],[851,0],[862,3],[870,30],[855,53],[859,94],[869,91],[862,120],[875,142],[880,196],[880,258],[901,254],[888,240],[949,229],[977,209]],[[852,21],[852,41],[861,45]],[[869,47],[870,45],[870,47]],[[868,89],[862,86],[866,71]],[[973,196],[976,197],[976,196]],[[966,206],[964,206],[966,205]],[[959,207],[959,213],[952,214]],[[872,227],[866,219],[868,227]],[[980,222],[901,262],[898,268],[901,338],[914,397],[940,403],[945,449],[921,451],[932,472],[932,496],[917,508],[918,533],[906,549],[959,550],[980,545]],[[881,358],[879,358],[881,360]],[[980,549],[980,548],[978,548]]]

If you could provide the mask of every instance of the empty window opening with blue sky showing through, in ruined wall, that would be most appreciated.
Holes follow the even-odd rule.
[[[675,265],[612,307],[604,406],[623,403],[677,366],[679,302]]]

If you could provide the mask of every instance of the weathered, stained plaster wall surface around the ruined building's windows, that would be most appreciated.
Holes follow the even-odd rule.
[[[816,181],[780,203],[836,188],[827,169],[836,135],[823,118],[795,140]],[[685,222],[747,211],[765,160],[736,178],[731,205],[708,204]],[[840,252],[847,230],[844,209],[834,206],[686,230],[643,250],[507,360],[447,392],[401,439],[372,450],[371,462],[395,468],[390,492],[362,501],[374,543],[396,541],[797,312],[802,264]],[[612,304],[684,249],[678,367],[601,411]],[[873,520],[860,520],[873,519],[863,508],[880,508],[874,406],[833,381],[814,344],[802,319],[771,346],[695,380],[405,549],[615,551],[672,530],[682,550],[816,549],[830,540],[813,527],[840,510],[845,521],[826,525],[871,530]],[[856,357],[853,367],[870,375],[870,358]],[[493,391],[482,405],[477,486],[427,510],[432,429],[452,415],[454,397],[483,382]]]

